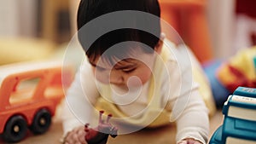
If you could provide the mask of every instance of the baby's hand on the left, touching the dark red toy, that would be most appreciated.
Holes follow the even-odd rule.
[[[84,126],[73,129],[68,132],[63,144],[87,144],[84,139],[85,131]]]

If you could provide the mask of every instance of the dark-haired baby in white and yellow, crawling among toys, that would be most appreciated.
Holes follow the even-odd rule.
[[[124,22],[126,28],[104,33],[90,45],[91,38],[104,31],[109,21],[122,23],[129,19],[127,15],[114,17],[117,13],[112,12],[121,11],[135,19]],[[98,24],[96,32],[84,29],[83,26],[95,26],[91,20],[104,20],[99,18],[104,14],[110,17]],[[136,19],[140,14],[145,16]],[[159,19],[150,20],[148,14]],[[148,26],[153,34],[140,30],[140,26]],[[175,51],[186,51],[186,47],[176,46],[161,34],[157,0],[82,0],[78,29],[86,59],[67,92],[68,107],[63,120],[65,144],[86,143],[84,124],[91,123],[96,110],[112,113],[123,134],[144,127],[157,129],[175,120],[177,143],[207,143],[208,109],[204,102],[206,96],[200,90],[200,84],[207,87],[206,80],[203,74],[197,75],[201,82],[192,78],[194,72],[201,73],[192,53],[175,55]],[[191,61],[186,62],[188,57]],[[209,94],[207,90],[204,92]],[[135,130],[125,131],[127,125],[135,125],[132,127]]]

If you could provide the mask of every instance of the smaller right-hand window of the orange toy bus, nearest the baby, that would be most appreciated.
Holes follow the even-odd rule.
[[[55,73],[52,77],[51,81],[49,82],[48,86],[44,90],[45,97],[51,97],[55,95],[62,95],[62,84],[61,84],[61,72]]]

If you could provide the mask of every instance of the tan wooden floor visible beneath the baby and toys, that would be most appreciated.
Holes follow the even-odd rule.
[[[221,111],[216,112],[210,118],[210,135],[223,123],[223,115]],[[44,135],[32,135],[29,133],[26,139],[19,144],[61,144],[62,135],[61,120],[54,120],[49,131]],[[0,138],[0,143],[4,144]],[[129,135],[119,135],[116,138],[109,137],[108,144],[174,144],[175,143],[175,127],[170,125],[154,130],[141,130]]]

